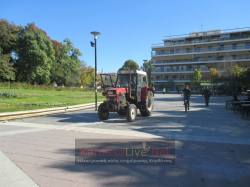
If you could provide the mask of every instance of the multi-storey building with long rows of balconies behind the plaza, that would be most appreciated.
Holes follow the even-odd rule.
[[[250,67],[250,30],[213,30],[168,37],[152,46],[155,87],[171,83],[173,87],[191,82],[195,69],[209,79],[210,68],[227,76],[235,64]]]

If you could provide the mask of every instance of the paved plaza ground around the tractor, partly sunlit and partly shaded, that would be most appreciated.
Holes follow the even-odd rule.
[[[132,123],[100,122],[92,109],[1,122],[0,186],[249,186],[250,120],[226,111],[227,99],[206,108],[194,95],[186,113],[180,95],[159,94],[152,116]],[[174,164],[75,165],[76,138],[152,137],[175,140]]]

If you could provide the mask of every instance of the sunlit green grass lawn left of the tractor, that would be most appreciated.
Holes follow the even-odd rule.
[[[99,101],[104,97],[98,94]],[[0,112],[32,110],[94,102],[94,91],[0,87]]]

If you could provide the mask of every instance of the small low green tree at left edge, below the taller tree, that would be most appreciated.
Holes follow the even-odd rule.
[[[13,81],[15,80],[15,70],[10,63],[9,55],[0,54],[0,81]]]

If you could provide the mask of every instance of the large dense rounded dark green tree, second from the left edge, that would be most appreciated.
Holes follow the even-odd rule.
[[[55,61],[55,51],[50,38],[34,24],[20,32],[18,42],[17,77],[19,81],[48,84]]]

